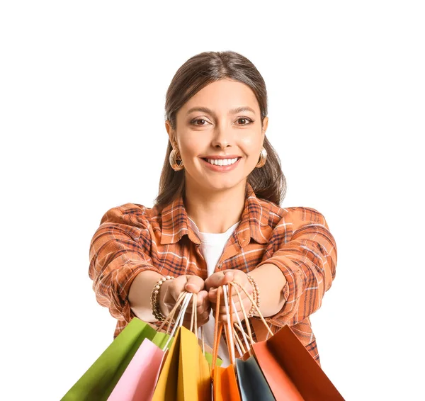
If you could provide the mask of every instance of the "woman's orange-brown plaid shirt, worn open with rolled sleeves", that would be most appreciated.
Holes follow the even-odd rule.
[[[141,271],[207,278],[200,239],[188,222],[181,196],[162,210],[136,203],[111,208],[101,218],[89,254],[96,300],[118,320],[114,338],[135,317],[128,292]],[[320,365],[309,317],[322,305],[335,278],[334,237],[317,210],[280,208],[257,198],[246,182],[241,222],[227,241],[215,271],[249,273],[263,264],[275,264],[286,278],[285,304],[276,315],[266,317],[266,322],[273,332],[288,324]],[[254,328],[259,327],[252,323],[255,319],[259,318],[251,318]],[[266,331],[263,333],[257,331],[257,341],[265,339]]]

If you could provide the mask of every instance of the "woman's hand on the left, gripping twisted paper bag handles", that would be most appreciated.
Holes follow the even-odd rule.
[[[174,278],[174,280],[167,280],[162,283],[159,289],[159,308],[164,316],[168,316],[170,311],[176,305],[179,295],[183,291],[188,293],[195,293],[196,297],[196,311],[198,327],[202,326],[210,317],[211,304],[208,298],[208,292],[205,290],[205,283],[202,278],[198,276],[184,275]],[[188,304],[186,314],[183,319],[183,326],[189,328],[191,325],[191,315],[193,307],[193,298]],[[177,317],[179,310],[176,311]]]

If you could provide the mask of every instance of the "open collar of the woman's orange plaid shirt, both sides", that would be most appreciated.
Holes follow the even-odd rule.
[[[263,199],[257,198],[254,189],[246,181],[245,204],[242,211],[241,222],[236,227],[237,241],[240,247],[249,244],[253,238],[259,244],[266,244],[272,229],[268,225],[270,204]],[[188,221],[188,215],[183,203],[183,197],[179,196],[162,210],[161,244],[174,244],[183,235],[188,235],[195,244],[200,244],[200,238]]]

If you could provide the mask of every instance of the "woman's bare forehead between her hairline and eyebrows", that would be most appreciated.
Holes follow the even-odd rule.
[[[251,88],[242,82],[229,79],[220,79],[220,81],[208,84],[192,96],[183,105],[181,111],[186,114],[190,108],[195,106],[208,107],[216,113],[227,113],[229,109],[237,106],[249,106],[256,113],[260,112],[259,103]]]

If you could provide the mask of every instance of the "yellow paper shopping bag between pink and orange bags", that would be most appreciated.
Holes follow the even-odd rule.
[[[179,327],[164,361],[152,401],[211,400],[208,361],[198,339],[186,327]]]

